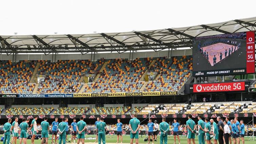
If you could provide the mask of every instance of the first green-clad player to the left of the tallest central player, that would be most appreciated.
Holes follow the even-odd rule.
[[[105,127],[106,127],[106,123],[103,122],[103,118],[101,117],[100,118],[100,122],[97,123],[97,126],[96,126],[96,131],[98,133],[98,141],[99,141],[99,144],[101,144],[101,140],[102,140],[102,143],[103,144],[106,144],[106,138],[105,138]]]

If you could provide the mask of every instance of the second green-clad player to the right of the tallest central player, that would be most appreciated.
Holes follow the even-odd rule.
[[[188,117],[189,120],[186,121],[186,125],[188,127],[188,134],[187,134],[187,139],[188,139],[188,144],[191,144],[191,139],[193,144],[196,144],[195,142],[195,130],[196,130],[196,123],[192,120],[192,115],[189,115]]]

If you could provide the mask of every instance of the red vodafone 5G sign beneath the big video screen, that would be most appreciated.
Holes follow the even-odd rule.
[[[193,84],[193,92],[219,92],[242,90],[245,90],[244,82]]]

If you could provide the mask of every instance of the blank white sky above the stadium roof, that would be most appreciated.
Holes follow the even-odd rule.
[[[255,17],[256,1],[5,0],[0,35],[131,32]],[[250,7],[251,6],[251,7]]]

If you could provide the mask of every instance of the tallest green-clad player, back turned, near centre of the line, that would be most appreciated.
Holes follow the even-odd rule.
[[[135,138],[136,144],[139,144],[139,128],[140,128],[140,121],[137,119],[137,114],[133,115],[134,118],[130,120],[129,122],[129,128],[131,130],[130,138],[131,142],[130,144],[133,144],[133,139]]]

